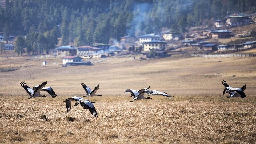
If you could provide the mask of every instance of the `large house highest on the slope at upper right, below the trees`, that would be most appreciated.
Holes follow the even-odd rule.
[[[227,18],[226,25],[228,26],[242,26],[250,24],[250,15],[246,14],[233,14],[228,15],[225,18]]]

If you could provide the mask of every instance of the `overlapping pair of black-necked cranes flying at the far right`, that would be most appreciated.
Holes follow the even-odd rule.
[[[223,95],[225,93],[229,93],[229,97],[227,97],[227,98],[234,98],[234,97],[241,97],[242,99],[246,98],[246,95],[243,92],[246,89],[246,84],[241,89],[233,88],[233,87],[229,86],[225,80],[222,81],[222,84],[225,86]]]

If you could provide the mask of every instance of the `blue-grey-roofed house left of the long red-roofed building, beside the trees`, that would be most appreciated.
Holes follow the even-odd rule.
[[[59,57],[65,57],[65,56],[77,54],[77,48],[73,46],[61,46],[61,47],[55,48],[55,50],[57,50],[57,55]]]

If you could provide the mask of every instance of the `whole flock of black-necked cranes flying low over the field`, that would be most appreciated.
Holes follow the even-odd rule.
[[[51,87],[45,87],[46,84],[47,84],[47,81],[41,83],[38,86],[34,86],[33,88],[30,88],[29,86],[27,86],[25,81],[21,82],[21,86],[30,95],[30,97],[27,99],[36,98],[36,97],[46,97],[45,95],[40,94],[41,91],[46,91],[48,94],[51,95],[51,97],[55,98],[57,96],[57,94],[54,92],[54,90]],[[229,93],[229,97],[227,97],[227,98],[232,98],[232,97],[241,97],[242,99],[246,98],[246,95],[244,93],[246,85],[244,85],[242,88],[233,88],[233,87],[229,86],[225,80],[222,81],[222,84],[225,86],[223,95],[225,93]],[[82,85],[83,89],[85,89],[85,91],[86,91],[86,95],[83,97],[102,96],[100,94],[96,94],[96,92],[99,90],[99,84],[93,90],[91,90],[90,87],[86,86],[84,83],[81,83],[81,85]],[[133,102],[135,100],[141,100],[141,99],[151,99],[150,97],[144,97],[144,94],[148,94],[148,96],[162,95],[162,96],[169,97],[169,98],[174,97],[174,96],[168,95],[165,92],[150,90],[150,86],[143,88],[141,90],[127,89],[127,90],[125,90],[125,93],[131,93],[131,97],[134,97],[133,100],[130,102]],[[94,117],[98,116],[98,113],[93,105],[93,103],[96,103],[96,102],[90,102],[88,99],[83,99],[81,97],[76,97],[76,96],[67,98],[63,102],[66,103],[66,108],[67,108],[68,112],[70,112],[70,110],[71,110],[71,101],[75,101],[75,104],[73,106],[77,106],[80,104],[83,107],[83,109],[88,109]]]

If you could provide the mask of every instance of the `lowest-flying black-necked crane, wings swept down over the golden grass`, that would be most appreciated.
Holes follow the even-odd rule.
[[[83,109],[88,109],[94,117],[98,117],[98,113],[93,105],[93,103],[96,102],[90,102],[88,99],[83,99],[81,97],[67,98],[63,102],[66,102],[66,108],[68,112],[70,112],[71,110],[71,101],[75,101],[75,104],[73,106],[77,106],[80,104],[83,107]]]

